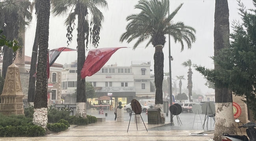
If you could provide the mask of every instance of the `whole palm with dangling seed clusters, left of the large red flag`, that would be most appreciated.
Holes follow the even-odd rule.
[[[67,25],[68,42],[72,41],[72,31],[76,16],[78,18],[78,34],[77,34],[77,98],[76,98],[76,116],[86,118],[86,96],[85,96],[85,79],[81,79],[81,70],[85,61],[85,41],[87,45],[92,42],[94,47],[98,47],[100,40],[99,34],[102,22],[104,20],[103,14],[97,7],[106,8],[108,3],[106,0],[52,0],[52,13],[55,16],[69,13],[65,20]],[[71,9],[71,11],[69,11]],[[89,19],[88,14],[91,13]],[[90,40],[89,40],[90,35]],[[68,44],[69,45],[69,44]]]

